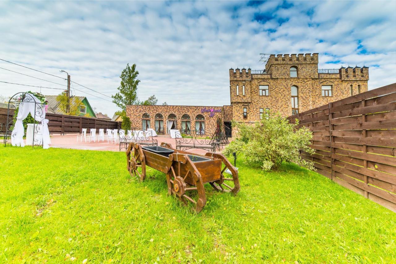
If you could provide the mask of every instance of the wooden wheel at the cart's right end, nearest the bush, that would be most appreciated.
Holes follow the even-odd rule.
[[[233,194],[237,194],[240,189],[239,178],[238,178],[238,170],[228,161],[223,154],[220,153],[211,153],[208,152],[205,154],[207,157],[213,157],[216,159],[221,159],[222,163],[225,165],[224,168],[220,172],[220,179],[214,182],[209,182],[209,184],[216,191],[230,192]],[[232,178],[226,178],[224,176],[225,170],[229,170],[232,173]],[[227,183],[226,183],[227,182]],[[229,186],[229,182],[234,182],[234,186]]]

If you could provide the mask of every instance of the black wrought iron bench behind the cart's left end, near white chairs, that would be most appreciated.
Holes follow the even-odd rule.
[[[129,132],[129,133],[128,133]],[[124,130],[120,130],[118,136],[120,137],[120,151],[126,149],[129,143],[139,143],[140,145],[156,146],[158,141],[152,137],[150,130],[141,130],[139,128],[132,128],[125,134]]]

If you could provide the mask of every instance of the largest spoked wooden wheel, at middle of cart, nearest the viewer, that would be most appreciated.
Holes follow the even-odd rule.
[[[185,175],[181,176],[177,174],[175,165],[183,163],[187,166],[188,171]],[[177,167],[179,167],[177,166]],[[204,183],[202,182],[201,174],[198,172],[194,163],[188,158],[187,155],[182,154],[172,154],[169,155],[168,161],[168,174],[166,175],[166,182],[168,183],[168,193],[175,195],[183,202],[184,205],[188,205],[188,202],[194,204],[194,210],[198,213],[206,205],[206,194],[204,189]],[[185,179],[190,176],[194,182],[195,186],[190,186],[185,182]],[[190,196],[186,194],[186,191],[197,191],[198,201],[195,201]]]

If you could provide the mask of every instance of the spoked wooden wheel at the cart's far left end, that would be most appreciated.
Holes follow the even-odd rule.
[[[146,178],[146,161],[140,144],[130,143],[126,150],[126,156],[129,174],[143,181]],[[139,172],[139,168],[141,168],[141,172]]]

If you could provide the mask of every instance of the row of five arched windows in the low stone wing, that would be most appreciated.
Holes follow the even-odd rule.
[[[154,117],[155,122],[155,131],[157,134],[165,134],[164,129],[164,116],[160,113],[156,114]],[[177,128],[177,117],[175,114],[168,115],[166,120],[166,129],[167,134],[170,134],[169,130],[178,129]],[[181,133],[190,134],[191,132],[191,122],[190,116],[184,114],[181,116]],[[142,115],[142,128],[143,130],[147,130],[151,128],[150,126],[150,115],[148,113],[144,113]],[[203,115],[196,115],[195,117],[195,130],[196,134],[204,134],[205,133],[205,117]]]

